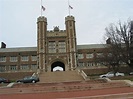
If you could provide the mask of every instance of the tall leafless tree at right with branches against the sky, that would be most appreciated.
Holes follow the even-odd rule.
[[[131,64],[131,21],[119,23],[117,25],[110,24],[106,29],[106,37],[110,39],[109,51],[111,57],[106,57],[105,61],[118,70],[120,64],[126,63],[133,68]],[[117,69],[116,69],[117,67]]]

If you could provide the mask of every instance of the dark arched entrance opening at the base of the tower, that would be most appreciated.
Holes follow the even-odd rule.
[[[51,71],[65,71],[65,64],[60,61],[56,61],[51,65]]]

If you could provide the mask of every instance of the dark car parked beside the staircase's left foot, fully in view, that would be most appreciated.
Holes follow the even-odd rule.
[[[18,83],[36,83],[39,81],[39,78],[36,76],[27,76],[24,77],[23,79],[17,80]]]

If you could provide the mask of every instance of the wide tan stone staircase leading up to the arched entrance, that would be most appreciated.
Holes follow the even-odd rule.
[[[59,83],[83,81],[83,77],[77,71],[43,72],[39,75],[40,83]]]

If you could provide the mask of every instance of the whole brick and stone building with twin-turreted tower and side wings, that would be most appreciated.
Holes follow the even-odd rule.
[[[47,23],[44,16],[37,19],[37,47],[6,48],[2,43],[0,72],[50,72],[55,67],[71,71],[102,67],[102,60],[98,58],[103,55],[103,49],[108,44],[77,45],[73,16],[65,17],[65,30],[60,30],[58,26],[47,30]],[[133,33],[131,35],[132,39]]]

